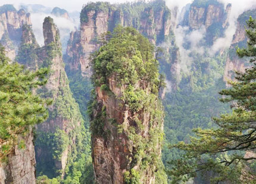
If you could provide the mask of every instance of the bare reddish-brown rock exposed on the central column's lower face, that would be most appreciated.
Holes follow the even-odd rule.
[[[104,123],[104,131],[109,132],[108,136],[104,137],[104,135],[92,135],[92,158],[93,158],[93,166],[95,170],[96,182],[99,184],[120,184],[124,182],[124,173],[128,172],[130,169],[138,169],[140,170],[141,166],[135,165],[133,161],[136,159],[143,158],[135,158],[136,143],[135,140],[131,140],[129,134],[132,134],[130,128],[133,125],[133,118],[138,117],[138,121],[142,122],[143,131],[136,131],[138,137],[142,139],[150,139],[152,136],[152,129],[155,130],[160,129],[163,130],[163,121],[162,122],[154,122],[152,128],[149,125],[149,122],[152,122],[151,113],[149,112],[138,112],[132,113],[132,111],[126,107],[126,104],[122,100],[118,100],[117,97],[121,97],[125,87],[117,87],[117,82],[115,78],[109,79],[110,89],[114,93],[113,96],[107,94],[107,91],[103,91],[100,87],[96,87],[96,101],[97,108],[94,112],[94,118],[98,118],[98,114],[102,111],[106,111],[106,116],[102,123]],[[140,84],[136,84],[139,86]],[[149,89],[146,88],[145,91],[149,95]],[[155,101],[155,103],[157,103]],[[117,129],[117,126],[111,122],[111,120],[115,120],[118,126],[124,128],[123,132],[118,132],[120,130]],[[139,141],[139,139],[137,140]],[[140,140],[141,141],[141,140]],[[161,141],[159,139],[155,139],[155,142],[158,142],[155,145],[155,149],[157,150],[157,157],[161,156]],[[151,148],[148,148],[146,151],[146,155],[151,154]],[[136,163],[136,161],[135,161]],[[155,183],[155,171],[157,167],[151,165],[146,170],[143,170],[141,173],[140,182],[153,184]],[[133,176],[135,177],[135,176]]]

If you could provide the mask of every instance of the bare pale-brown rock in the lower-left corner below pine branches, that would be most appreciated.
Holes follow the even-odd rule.
[[[7,162],[0,161],[0,183],[1,184],[35,184],[35,148],[33,145],[32,128],[23,137],[18,136],[18,140],[24,141],[24,148],[14,149],[8,154]]]

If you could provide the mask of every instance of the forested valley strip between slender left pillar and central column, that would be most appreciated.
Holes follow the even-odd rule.
[[[80,183],[90,184],[94,182],[94,173],[92,167],[92,158],[90,156],[90,134],[89,134],[89,118],[86,110],[90,99],[90,91],[93,86],[89,78],[84,78],[79,72],[68,75],[70,80],[70,89],[73,93],[74,99],[79,104],[80,112],[82,113],[85,127],[80,131],[82,141],[80,142],[82,150],[80,151],[79,158],[71,165],[70,176],[71,178],[79,177]],[[80,174],[82,173],[82,176]],[[65,182],[71,180],[67,177]]]

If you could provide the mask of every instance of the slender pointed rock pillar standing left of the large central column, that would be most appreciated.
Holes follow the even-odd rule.
[[[79,132],[76,134],[76,131],[80,130],[83,120],[68,86],[61,55],[60,34],[50,17],[46,17],[43,23],[43,36],[45,46],[38,53],[38,58],[43,61],[42,66],[50,68],[51,74],[41,94],[51,97],[54,102],[49,107],[48,120],[37,127],[39,134],[36,139],[37,168],[46,175],[52,170],[53,173],[48,174],[49,176],[57,176],[57,170],[60,170],[63,178],[68,156],[71,156],[71,152],[76,147],[76,136],[79,134]],[[44,170],[49,167],[49,162],[50,168],[48,171]]]

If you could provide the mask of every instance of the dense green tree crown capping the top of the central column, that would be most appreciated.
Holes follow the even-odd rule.
[[[95,85],[106,83],[107,78],[114,74],[121,84],[135,84],[139,78],[145,78],[153,83],[154,88],[154,78],[158,77],[158,73],[152,51],[153,46],[135,29],[115,28],[113,38],[108,45],[101,47],[99,52],[95,53],[93,59]]]

